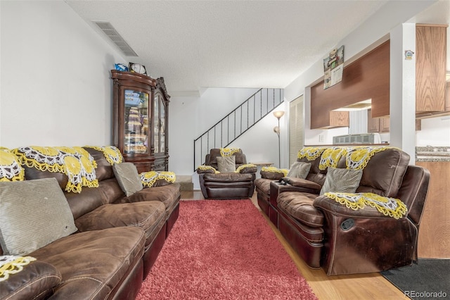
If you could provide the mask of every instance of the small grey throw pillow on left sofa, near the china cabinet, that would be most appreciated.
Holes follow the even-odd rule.
[[[134,163],[117,163],[113,165],[113,171],[120,188],[127,196],[143,189],[141,177]]]

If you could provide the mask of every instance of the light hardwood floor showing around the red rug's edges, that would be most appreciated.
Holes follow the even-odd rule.
[[[204,199],[200,191],[184,191],[181,192],[182,200],[199,200]],[[253,194],[252,202],[257,205],[257,194]],[[286,251],[293,259],[298,270],[306,278],[307,282],[319,299],[330,300],[347,300],[347,299],[409,299],[394,287],[389,281],[379,273],[371,273],[364,275],[342,275],[327,276],[323,270],[314,270],[309,268],[300,258],[292,247],[281,236],[278,229],[270,222],[269,218],[262,213],[267,223],[274,230],[276,237],[285,247]]]

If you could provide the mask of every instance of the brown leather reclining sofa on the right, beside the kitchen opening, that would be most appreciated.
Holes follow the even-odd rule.
[[[323,156],[326,149],[314,150]],[[409,165],[409,155],[396,148],[378,151],[368,160],[356,193],[400,199],[407,213],[397,219],[370,205],[352,209],[319,196],[328,170],[319,168],[322,156],[297,159],[311,163],[304,179],[262,172],[255,180],[259,206],[300,257],[327,275],[372,273],[416,261],[428,170]],[[340,157],[336,168],[347,168],[346,160],[346,155]]]

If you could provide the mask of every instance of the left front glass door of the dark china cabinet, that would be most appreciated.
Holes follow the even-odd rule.
[[[133,89],[124,90],[124,152],[148,154],[149,94]]]

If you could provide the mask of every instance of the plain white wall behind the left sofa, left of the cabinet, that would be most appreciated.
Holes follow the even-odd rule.
[[[114,63],[63,1],[0,1],[0,146],[112,143]]]

